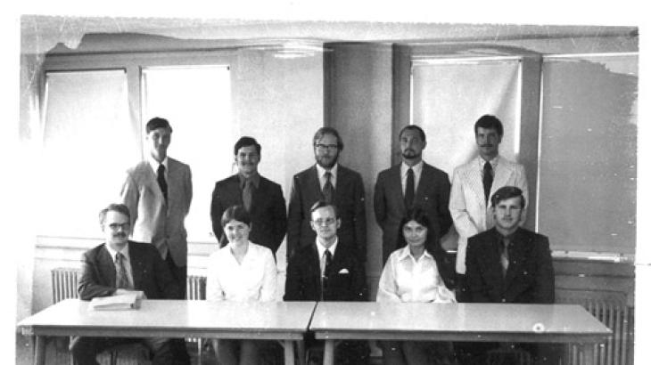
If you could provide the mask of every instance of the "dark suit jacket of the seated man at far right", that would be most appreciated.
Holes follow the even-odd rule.
[[[554,267],[547,237],[518,228],[502,275],[495,228],[468,239],[466,277],[474,303],[554,303]]]

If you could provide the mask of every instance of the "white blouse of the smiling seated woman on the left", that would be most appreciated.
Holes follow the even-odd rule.
[[[231,244],[208,259],[206,299],[212,301],[269,302],[276,296],[276,261],[271,250],[249,241],[238,263]]]

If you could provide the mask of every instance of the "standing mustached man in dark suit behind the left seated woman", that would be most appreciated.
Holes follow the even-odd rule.
[[[243,206],[251,215],[251,242],[268,247],[276,254],[287,231],[287,213],[280,185],[258,173],[260,150],[260,143],[251,137],[242,137],[235,142],[238,172],[215,183],[210,219],[215,237],[224,246],[227,238],[221,227],[221,215],[228,207]]]

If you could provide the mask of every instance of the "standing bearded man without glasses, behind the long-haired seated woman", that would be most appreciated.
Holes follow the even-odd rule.
[[[408,209],[420,207],[429,217],[437,242],[449,231],[448,174],[423,161],[427,145],[419,126],[405,126],[399,134],[402,162],[377,174],[375,182],[375,220],[382,228],[383,263],[396,248],[400,220]]]

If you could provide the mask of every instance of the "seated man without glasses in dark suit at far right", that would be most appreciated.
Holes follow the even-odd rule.
[[[490,205],[495,227],[468,239],[466,275],[472,302],[553,304],[554,268],[549,240],[518,225],[525,206],[523,191],[515,186],[499,188],[490,198]],[[497,346],[485,345],[475,345],[472,355],[481,356]],[[536,363],[550,360],[549,345],[518,347],[531,353]]]

